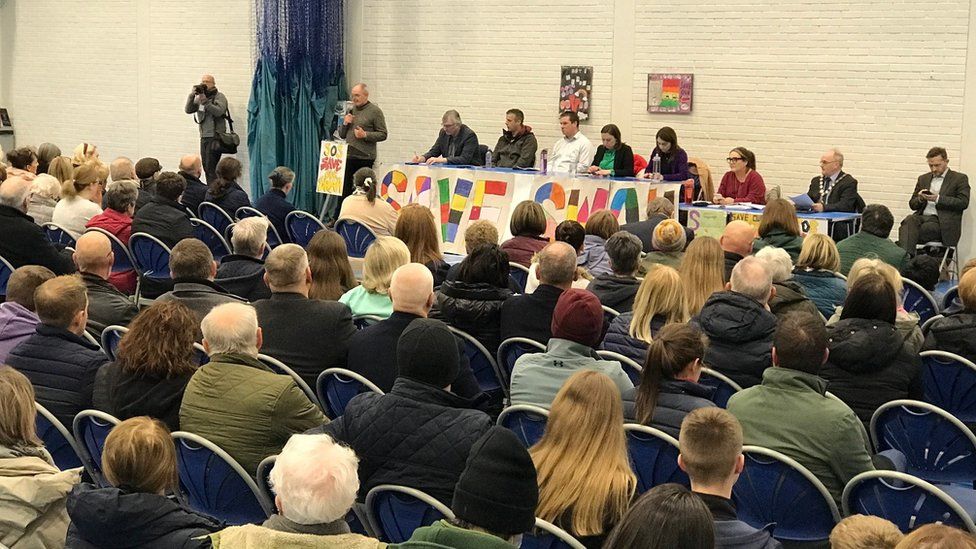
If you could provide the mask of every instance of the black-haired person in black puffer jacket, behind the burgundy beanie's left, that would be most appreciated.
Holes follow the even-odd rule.
[[[508,272],[507,253],[495,244],[478,247],[461,262],[457,280],[437,290],[431,318],[470,334],[495,356],[502,342],[502,305],[513,295]]]

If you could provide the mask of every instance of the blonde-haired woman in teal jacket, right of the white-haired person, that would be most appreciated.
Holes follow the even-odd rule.
[[[834,314],[847,294],[847,282],[837,273],[838,269],[840,253],[833,238],[815,233],[803,239],[793,280],[803,287],[824,318]]]

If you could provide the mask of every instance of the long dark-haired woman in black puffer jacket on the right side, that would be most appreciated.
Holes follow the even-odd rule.
[[[820,377],[865,425],[885,402],[922,399],[921,362],[895,327],[896,310],[895,289],[868,273],[847,293],[840,321],[827,327],[830,356]]]

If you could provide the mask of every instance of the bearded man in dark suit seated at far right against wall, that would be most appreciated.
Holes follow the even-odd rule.
[[[920,243],[958,244],[962,212],[969,207],[969,178],[949,169],[946,150],[932,147],[925,159],[929,173],[918,176],[915,191],[908,200],[908,207],[914,213],[901,222],[898,230],[898,245],[911,256]]]

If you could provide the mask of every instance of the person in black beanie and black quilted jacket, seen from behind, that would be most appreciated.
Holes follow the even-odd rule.
[[[397,342],[393,389],[356,395],[342,416],[315,429],[359,456],[360,500],[380,484],[402,484],[451,502],[472,445],[491,427],[487,414],[449,391],[457,349],[444,323],[412,321]]]

